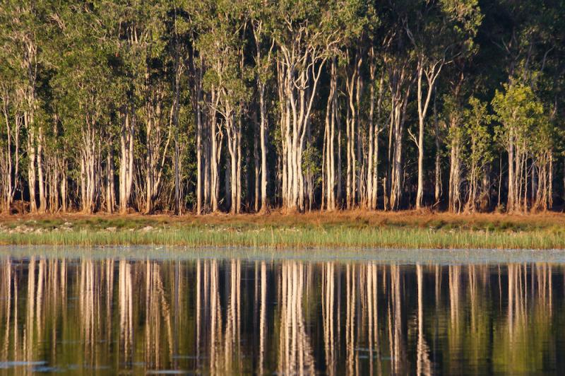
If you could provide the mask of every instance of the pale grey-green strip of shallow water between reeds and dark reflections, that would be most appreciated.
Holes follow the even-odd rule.
[[[85,252],[88,251],[88,252]],[[557,249],[268,249],[245,247],[60,247],[44,245],[0,245],[0,260],[31,259],[126,259],[160,262],[242,259],[247,262],[377,262],[389,265],[496,265],[549,263],[565,264],[565,250]]]

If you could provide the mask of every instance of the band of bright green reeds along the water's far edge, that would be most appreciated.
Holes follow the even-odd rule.
[[[167,245],[184,247],[268,248],[496,248],[564,249],[565,233],[552,228],[470,230],[443,228],[332,225],[165,225],[161,228],[112,230],[77,228],[66,231],[0,232],[1,245]]]

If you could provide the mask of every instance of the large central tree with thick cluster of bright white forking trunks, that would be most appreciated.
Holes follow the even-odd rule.
[[[273,10],[277,74],[281,103],[283,207],[304,210],[304,153],[307,129],[322,69],[342,38],[331,20],[331,1],[283,0]],[[337,4],[335,4],[337,5]]]

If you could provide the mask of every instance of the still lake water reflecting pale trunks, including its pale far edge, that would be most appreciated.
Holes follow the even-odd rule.
[[[0,373],[560,373],[564,271],[559,252],[4,247]]]

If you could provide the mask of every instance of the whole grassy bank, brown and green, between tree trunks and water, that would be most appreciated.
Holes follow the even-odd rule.
[[[565,214],[26,214],[0,216],[0,245],[565,249]]]

